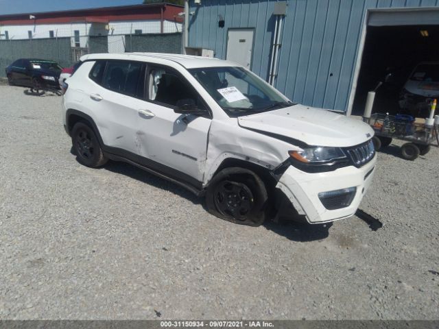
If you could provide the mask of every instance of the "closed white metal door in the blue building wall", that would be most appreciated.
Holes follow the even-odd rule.
[[[229,29],[226,60],[237,62],[250,69],[252,65],[254,29]]]

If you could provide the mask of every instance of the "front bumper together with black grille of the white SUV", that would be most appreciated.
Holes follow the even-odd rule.
[[[371,141],[342,149],[344,157],[307,164],[291,156],[273,171],[279,214],[308,223],[327,223],[351,217],[368,190],[376,155]],[[358,157],[361,155],[361,158]],[[279,191],[281,196],[279,196]],[[289,204],[285,204],[285,198]]]

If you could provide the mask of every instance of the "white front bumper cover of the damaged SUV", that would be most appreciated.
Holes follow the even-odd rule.
[[[361,199],[372,183],[377,155],[361,168],[344,167],[325,173],[305,173],[293,166],[278,180],[279,188],[292,202],[300,215],[305,215],[309,223],[325,223],[351,217],[357,211]],[[343,188],[355,187],[349,206],[328,210],[320,201],[318,194]]]

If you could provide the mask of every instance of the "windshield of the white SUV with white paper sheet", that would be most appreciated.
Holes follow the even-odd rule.
[[[241,67],[209,67],[189,69],[189,72],[229,115],[248,115],[294,105]]]

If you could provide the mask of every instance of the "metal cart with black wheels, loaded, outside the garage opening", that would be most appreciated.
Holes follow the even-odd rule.
[[[407,141],[401,146],[401,155],[406,160],[414,160],[427,154],[430,145],[439,147],[439,125],[431,127],[414,122],[410,115],[388,115],[375,113],[363,118],[375,131],[373,143],[378,151],[392,143],[392,138]]]

